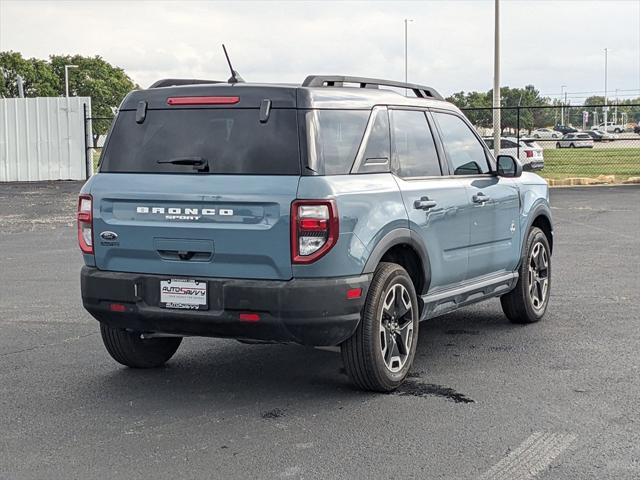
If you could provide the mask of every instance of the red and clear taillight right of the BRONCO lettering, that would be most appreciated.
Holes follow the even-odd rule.
[[[291,261],[311,263],[338,241],[334,200],[296,200],[291,204]]]

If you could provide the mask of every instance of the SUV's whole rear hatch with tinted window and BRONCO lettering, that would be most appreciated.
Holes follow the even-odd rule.
[[[292,277],[296,110],[277,101],[265,109],[264,91],[261,98],[249,89],[243,96],[242,87],[208,89],[148,90],[123,102],[91,183],[97,268]]]

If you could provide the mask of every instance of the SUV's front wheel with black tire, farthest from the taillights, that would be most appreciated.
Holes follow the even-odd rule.
[[[537,247],[539,246],[539,247]],[[530,275],[530,266],[532,262],[537,264],[532,255],[536,248],[542,248],[546,253],[546,273],[539,276]],[[540,261],[540,264],[543,262]],[[535,267],[533,267],[535,269]],[[542,230],[532,227],[527,235],[527,242],[520,268],[518,269],[520,277],[516,287],[506,295],[500,297],[502,311],[512,323],[534,323],[539,321],[547,311],[549,305],[549,295],[551,292],[551,248],[549,240]],[[542,287],[541,281],[546,279],[546,289]],[[534,286],[532,287],[532,281]],[[535,293],[532,293],[532,289]],[[544,293],[543,293],[544,292]],[[542,294],[543,299],[536,302],[534,297]]]

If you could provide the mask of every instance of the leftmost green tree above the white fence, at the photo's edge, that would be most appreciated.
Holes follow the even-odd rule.
[[[51,97],[60,92],[60,80],[46,60],[23,58],[18,52],[0,52],[0,97],[18,96],[18,75],[27,97]]]

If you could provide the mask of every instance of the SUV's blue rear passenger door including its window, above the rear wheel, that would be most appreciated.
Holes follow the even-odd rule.
[[[467,274],[470,204],[464,184],[442,176],[424,111],[395,109],[390,114],[394,173],[411,229],[429,253],[430,292],[455,285]]]

